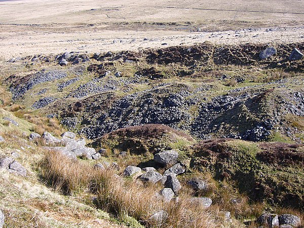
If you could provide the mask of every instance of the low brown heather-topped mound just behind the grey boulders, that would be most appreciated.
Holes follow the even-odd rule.
[[[161,124],[147,124],[121,128],[97,138],[92,145],[104,145],[131,154],[155,153],[193,143],[193,138],[181,131]]]

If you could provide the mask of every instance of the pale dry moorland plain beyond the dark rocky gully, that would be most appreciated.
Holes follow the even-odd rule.
[[[294,0],[25,0],[0,2],[0,22],[0,58],[5,60],[65,51],[138,50],[205,41],[304,41],[304,7]]]

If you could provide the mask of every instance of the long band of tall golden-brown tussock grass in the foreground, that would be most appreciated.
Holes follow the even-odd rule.
[[[165,204],[157,196],[158,185],[146,185],[115,174],[111,169],[93,169],[90,164],[73,161],[49,152],[41,163],[42,176],[66,194],[86,188],[96,195],[96,205],[124,220],[134,217],[147,227],[215,227],[211,213],[190,202],[184,193],[177,203]],[[165,210],[169,216],[157,223],[150,216]]]

